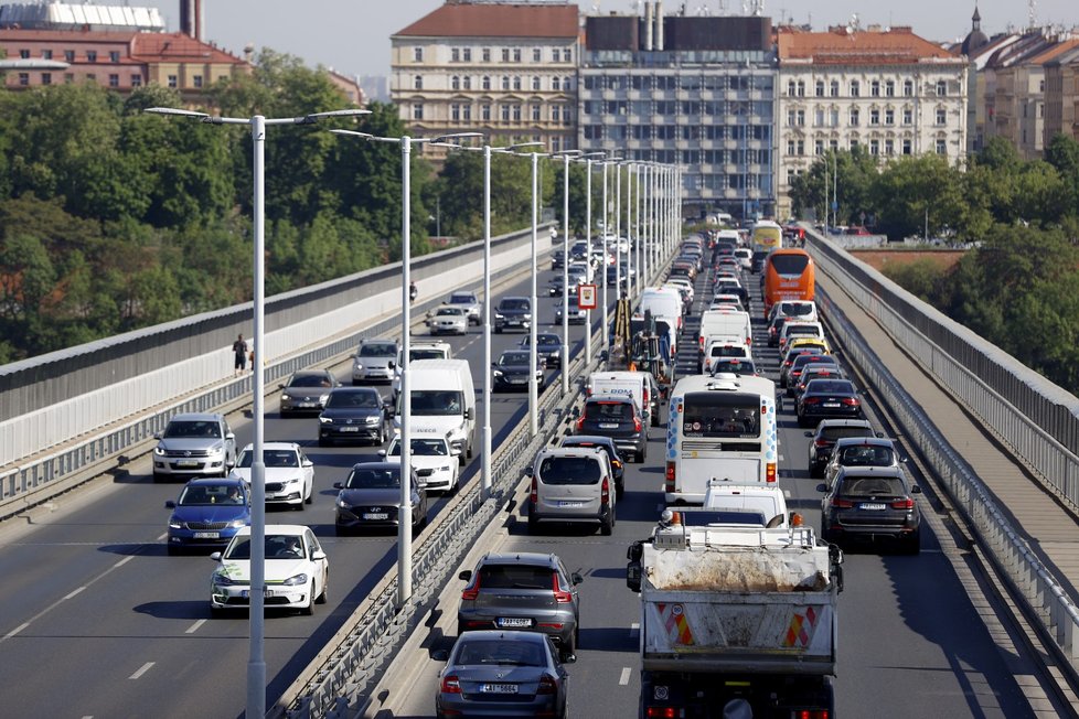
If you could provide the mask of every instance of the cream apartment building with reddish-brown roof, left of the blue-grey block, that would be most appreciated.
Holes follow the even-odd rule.
[[[391,98],[414,136],[573,149],[578,34],[571,3],[448,0],[391,36]]]

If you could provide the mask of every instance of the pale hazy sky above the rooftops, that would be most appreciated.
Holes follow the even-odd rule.
[[[76,2],[78,0],[68,0]],[[179,30],[180,0],[96,0],[96,4],[160,8],[170,31]],[[442,4],[441,0],[203,0],[204,39],[243,55],[248,43],[297,55],[310,66],[324,65],[344,75],[388,75],[389,35]],[[577,3],[585,12],[634,11],[631,0],[590,0]],[[666,12],[682,2],[666,0]],[[765,14],[782,14],[814,30],[846,24],[857,13],[863,26],[911,25],[915,33],[934,41],[962,39],[971,28],[972,0],[906,0],[900,7],[880,0],[768,0]],[[720,7],[741,14],[741,0],[687,0],[687,13]],[[981,0],[982,30],[987,35],[1028,24],[1028,2]],[[642,14],[642,13],[638,13]],[[1076,0],[1036,0],[1037,24],[1079,25]]]

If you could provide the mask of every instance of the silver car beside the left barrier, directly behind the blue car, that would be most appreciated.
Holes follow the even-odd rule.
[[[153,436],[153,481],[225,476],[236,464],[236,436],[224,415],[185,414]]]

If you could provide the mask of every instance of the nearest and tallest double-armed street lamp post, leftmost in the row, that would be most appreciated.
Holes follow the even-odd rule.
[[[252,539],[250,539],[250,642],[247,659],[247,709],[248,717],[266,715],[266,658],[265,604],[266,604],[266,464],[263,461],[264,444],[264,400],[266,389],[265,308],[266,308],[266,126],[267,125],[314,125],[328,117],[355,117],[370,115],[370,110],[334,110],[313,112],[303,117],[267,119],[261,115],[248,118],[211,117],[206,112],[195,112],[171,107],[150,107],[143,110],[154,115],[174,115],[207,122],[210,125],[247,125],[252,129],[253,162],[255,179],[253,190],[254,230],[254,332],[252,336],[255,363],[252,366],[252,419],[254,437],[252,447]]]

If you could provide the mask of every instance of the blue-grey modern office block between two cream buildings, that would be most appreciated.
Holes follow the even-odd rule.
[[[770,216],[776,206],[776,53],[760,17],[588,17],[580,148],[683,167],[683,211]]]

